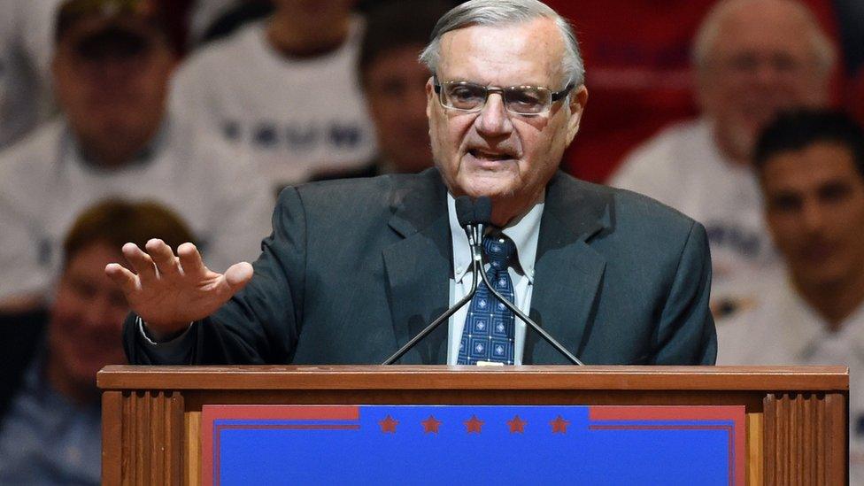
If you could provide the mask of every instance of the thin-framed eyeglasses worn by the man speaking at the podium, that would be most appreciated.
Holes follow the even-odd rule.
[[[552,104],[563,99],[574,88],[574,83],[560,91],[552,91],[542,86],[508,86],[491,88],[468,81],[444,81],[439,83],[433,78],[438,100],[445,108],[459,112],[479,112],[486,106],[491,93],[498,93],[504,99],[508,112],[517,115],[542,115],[549,112]]]

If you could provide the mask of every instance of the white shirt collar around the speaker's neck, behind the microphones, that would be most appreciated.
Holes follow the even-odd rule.
[[[516,258],[522,273],[528,277],[528,282],[534,283],[534,263],[537,253],[537,241],[540,237],[540,219],[543,216],[544,198],[534,204],[519,220],[502,229],[508,238],[516,245]],[[471,270],[471,248],[468,246],[468,236],[459,226],[456,219],[456,199],[447,192],[447,213],[450,219],[450,235],[453,245],[453,278],[460,282]]]

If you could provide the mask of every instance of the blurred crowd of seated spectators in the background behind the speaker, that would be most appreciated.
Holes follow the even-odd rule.
[[[93,483],[103,269],[158,235],[256,258],[285,186],[433,165],[417,60],[457,0],[9,0],[0,484]],[[562,169],[702,222],[718,364],[850,366],[864,465],[864,2],[548,0],[589,104]],[[859,386],[860,385],[860,386]],[[861,479],[864,481],[864,479]]]

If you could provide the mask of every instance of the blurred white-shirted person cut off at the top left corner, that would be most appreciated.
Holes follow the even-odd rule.
[[[59,0],[11,0],[0,15],[0,149],[53,113],[50,59]]]

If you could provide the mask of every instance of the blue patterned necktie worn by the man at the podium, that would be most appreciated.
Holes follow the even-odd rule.
[[[513,302],[513,281],[507,268],[516,253],[516,245],[504,235],[485,236],[483,249],[490,263],[486,271],[489,282],[499,294]],[[497,361],[513,365],[513,325],[513,312],[481,281],[468,306],[457,363],[476,365],[477,361]]]

